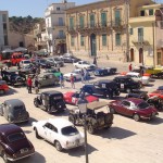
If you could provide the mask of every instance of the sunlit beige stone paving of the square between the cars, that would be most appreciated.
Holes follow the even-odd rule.
[[[98,64],[101,66],[116,66],[118,72],[128,70],[128,63],[99,60]],[[67,73],[73,68],[74,67],[72,64],[66,64],[65,67],[61,68],[61,71],[63,71],[63,73]],[[95,77],[90,80],[90,83],[98,78],[111,79],[114,76]],[[75,85],[77,90],[83,84],[78,82]],[[152,91],[160,85],[162,85],[162,80],[156,79],[142,90]],[[72,90],[70,83],[65,83],[65,86],[66,87],[64,89],[61,89],[60,87],[48,87],[42,88],[41,91],[59,90],[65,92],[67,90]],[[121,96],[123,97],[124,93]],[[26,136],[34,143],[36,154],[22,161],[17,161],[17,163],[84,163],[84,148],[59,152],[55,150],[53,145],[42,139],[36,139],[35,133],[32,128],[32,122],[59,116],[67,118],[68,112],[50,115],[47,112],[34,106],[33,100],[35,97],[35,93],[28,95],[25,87],[11,87],[11,92],[9,95],[0,97],[0,102],[12,98],[18,98],[23,100],[30,115],[30,122],[28,124],[21,124],[20,126],[24,129]],[[74,106],[67,105],[67,109],[72,108]],[[0,117],[0,123],[7,123],[4,117]],[[78,129],[83,130],[83,127],[78,127]],[[162,163],[162,112],[160,112],[159,117],[150,122],[135,122],[133,118],[115,114],[114,123],[109,130],[100,130],[96,135],[88,134],[89,163]],[[0,163],[1,162],[2,160],[0,159]]]

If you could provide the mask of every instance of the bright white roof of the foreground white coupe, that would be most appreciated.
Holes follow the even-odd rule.
[[[52,125],[54,125],[57,128],[63,128],[66,126],[73,126],[73,124],[65,120],[65,118],[49,118],[49,123],[51,123]]]

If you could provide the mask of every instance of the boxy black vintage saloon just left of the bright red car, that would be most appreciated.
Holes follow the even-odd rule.
[[[41,92],[34,99],[34,104],[48,113],[63,112],[66,109],[63,93],[55,90]]]

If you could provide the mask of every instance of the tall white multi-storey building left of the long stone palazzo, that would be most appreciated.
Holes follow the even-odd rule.
[[[48,51],[66,52],[65,10],[75,7],[75,2],[52,3],[45,12]]]

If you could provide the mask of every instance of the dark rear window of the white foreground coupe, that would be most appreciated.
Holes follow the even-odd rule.
[[[73,136],[73,135],[77,135],[78,130],[76,129],[75,126],[66,126],[61,129],[61,133],[65,136]]]

